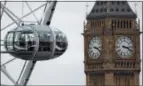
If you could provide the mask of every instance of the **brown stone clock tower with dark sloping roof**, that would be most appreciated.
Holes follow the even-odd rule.
[[[96,1],[83,33],[87,86],[139,86],[136,18],[127,1]]]

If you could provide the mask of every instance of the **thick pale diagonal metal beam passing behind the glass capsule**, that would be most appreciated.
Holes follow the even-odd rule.
[[[41,25],[50,25],[50,21],[52,19],[52,15],[54,13],[54,9],[56,7],[56,3],[57,3],[57,0],[51,2],[49,4],[49,6],[46,7],[46,10],[44,12],[44,17],[42,18],[42,21],[41,21]],[[49,23],[48,23],[49,22]],[[48,24],[47,24],[48,23]],[[31,73],[34,69],[34,66],[36,64],[36,61],[29,61],[26,65],[26,68],[25,68],[25,71],[20,79],[20,83],[16,86],[19,86],[19,85],[22,85],[22,86],[26,86],[28,81],[29,81],[29,78],[31,76]]]

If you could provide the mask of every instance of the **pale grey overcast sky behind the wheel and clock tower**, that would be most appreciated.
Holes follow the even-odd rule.
[[[34,0],[35,1],[35,0]],[[82,0],[83,1],[83,0]],[[93,0],[94,1],[94,0]],[[44,2],[30,2],[32,9],[40,6]],[[90,12],[94,2],[88,2],[89,8],[86,9],[87,2],[58,2],[55,13],[52,18],[51,26],[60,29],[67,35],[68,38],[68,49],[67,51],[54,60],[37,62],[29,85],[85,85],[85,74],[84,74],[84,46],[83,46],[83,22],[85,20],[86,10]],[[11,9],[16,15],[21,17],[22,15],[29,12],[26,5],[24,5],[24,11],[22,14],[22,3],[20,2],[8,2],[7,7]],[[134,2],[130,2],[130,6],[134,8]],[[142,4],[137,3],[138,17],[142,19]],[[38,19],[42,16],[42,9],[37,11],[36,16]],[[28,16],[24,20],[33,21],[34,17]],[[7,24],[12,22],[5,14],[1,21],[1,27],[5,27]],[[142,20],[141,20],[142,24]],[[14,28],[15,25],[9,27],[7,30],[2,32],[2,38],[5,33]],[[1,55],[2,63],[11,59],[12,57],[8,54]],[[17,59],[14,62],[8,64],[7,70],[16,80],[20,73],[24,61]],[[2,84],[12,84],[3,73],[1,73]],[[141,77],[140,77],[141,78]]]

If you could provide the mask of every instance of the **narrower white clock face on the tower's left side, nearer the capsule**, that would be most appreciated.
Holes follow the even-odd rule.
[[[101,55],[101,39],[98,36],[93,37],[89,42],[88,54],[90,58],[97,59]]]

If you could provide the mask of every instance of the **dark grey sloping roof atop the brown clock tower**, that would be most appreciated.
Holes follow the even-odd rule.
[[[87,20],[100,18],[136,18],[127,1],[96,1]]]

